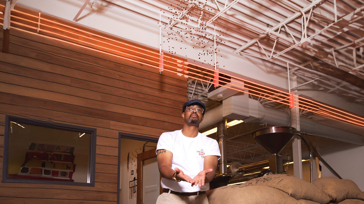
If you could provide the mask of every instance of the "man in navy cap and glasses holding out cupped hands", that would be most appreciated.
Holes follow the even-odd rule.
[[[159,137],[157,162],[163,193],[157,204],[208,204],[205,191],[221,155],[217,141],[198,132],[205,111],[201,101],[187,101],[182,107],[182,130]]]

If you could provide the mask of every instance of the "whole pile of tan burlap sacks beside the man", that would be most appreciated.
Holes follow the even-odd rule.
[[[216,188],[207,196],[210,204],[364,204],[364,193],[353,181],[327,178],[311,184],[291,175],[273,174]]]

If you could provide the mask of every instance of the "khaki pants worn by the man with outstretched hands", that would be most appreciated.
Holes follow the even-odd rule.
[[[162,193],[156,204],[209,204],[206,194],[196,196],[180,196],[172,193]]]

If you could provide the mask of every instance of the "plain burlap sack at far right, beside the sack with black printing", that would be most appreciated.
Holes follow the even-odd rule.
[[[364,200],[363,192],[352,180],[322,177],[313,180],[313,184],[323,190],[336,203],[345,199]]]

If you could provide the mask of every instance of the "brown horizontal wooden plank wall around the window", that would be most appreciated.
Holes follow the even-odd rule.
[[[186,78],[17,28],[9,39],[0,53],[0,179],[5,115],[96,128],[96,178],[95,187],[0,183],[0,203],[115,204],[118,133],[182,128]]]

